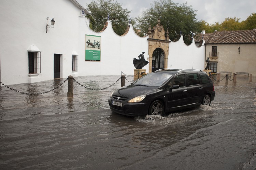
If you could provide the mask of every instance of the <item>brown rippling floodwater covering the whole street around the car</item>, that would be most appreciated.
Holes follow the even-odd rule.
[[[100,89],[119,77],[75,80]],[[9,87],[41,93],[64,80]],[[73,98],[68,82],[38,96],[1,86],[1,169],[256,169],[255,78],[215,81],[211,106],[144,118],[111,112],[108,98],[120,82],[105,90],[74,82]]]

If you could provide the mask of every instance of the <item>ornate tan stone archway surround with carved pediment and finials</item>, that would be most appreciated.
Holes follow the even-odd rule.
[[[153,59],[153,52],[155,49],[160,48],[164,53],[164,68],[167,68],[168,64],[168,55],[169,55],[169,43],[171,42],[169,40],[169,32],[168,30],[165,32],[163,29],[160,20],[158,19],[158,22],[156,26],[151,29],[151,26],[148,28],[148,55],[149,55],[149,61],[148,61],[148,72],[152,72],[152,59]]]

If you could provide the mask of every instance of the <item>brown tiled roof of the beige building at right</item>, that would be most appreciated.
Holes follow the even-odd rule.
[[[201,34],[205,44],[254,44],[256,43],[256,30],[215,31]]]

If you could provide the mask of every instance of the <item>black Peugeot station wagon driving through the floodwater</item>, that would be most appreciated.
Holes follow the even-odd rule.
[[[160,69],[115,90],[108,102],[115,113],[146,116],[210,105],[214,97],[214,85],[204,71]]]

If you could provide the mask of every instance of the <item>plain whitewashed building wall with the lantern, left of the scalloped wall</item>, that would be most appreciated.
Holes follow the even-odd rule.
[[[1,0],[1,82],[8,85],[31,81],[27,51],[30,45],[41,50],[41,74],[35,81],[53,79],[54,53],[62,54],[61,77],[67,77],[72,72],[72,51],[78,50],[81,15],[81,9],[70,0]],[[46,33],[47,17],[56,22]]]

